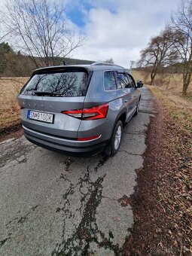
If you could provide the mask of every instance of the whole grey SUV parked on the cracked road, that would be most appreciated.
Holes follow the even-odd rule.
[[[138,87],[108,63],[37,69],[18,96],[26,139],[66,154],[114,155],[123,125],[138,113]]]

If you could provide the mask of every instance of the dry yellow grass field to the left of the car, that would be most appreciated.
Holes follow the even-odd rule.
[[[0,128],[20,123],[17,94],[28,78],[0,78]]]

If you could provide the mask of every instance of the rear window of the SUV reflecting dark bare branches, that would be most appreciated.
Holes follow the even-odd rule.
[[[87,72],[47,72],[33,75],[21,90],[21,94],[35,95],[35,92],[47,92],[56,96],[85,96],[87,92]],[[41,94],[42,95],[42,94]]]

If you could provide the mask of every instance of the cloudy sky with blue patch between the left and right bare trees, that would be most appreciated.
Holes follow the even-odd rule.
[[[87,40],[73,55],[129,67],[151,36],[157,35],[180,0],[67,0],[67,14]]]

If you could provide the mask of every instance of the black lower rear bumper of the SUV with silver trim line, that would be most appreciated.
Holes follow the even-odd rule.
[[[109,141],[96,142],[92,140],[89,142],[78,142],[76,140],[62,139],[55,136],[39,133],[23,126],[24,135],[29,142],[41,146],[42,148],[50,149],[51,151],[59,151],[64,154],[76,156],[90,156],[102,152]]]

